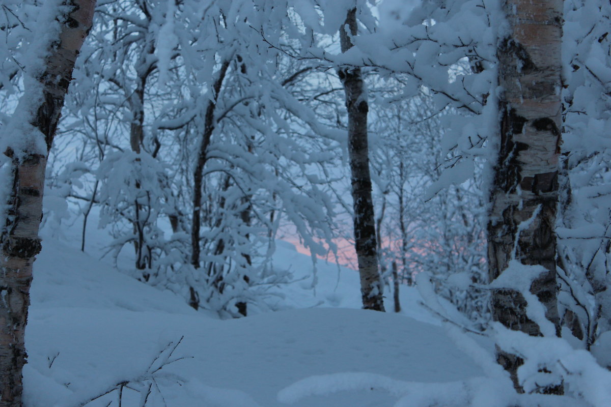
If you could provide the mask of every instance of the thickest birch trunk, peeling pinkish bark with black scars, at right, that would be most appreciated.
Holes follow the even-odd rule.
[[[541,265],[547,272],[530,291],[546,308],[546,317],[559,319],[556,286],[558,156],[561,126],[562,1],[506,0],[503,10],[509,30],[499,38],[500,143],[494,167],[488,222],[490,281],[515,259]],[[527,225],[524,229],[522,227]],[[517,247],[516,247],[517,246]],[[492,317],[511,330],[540,336],[540,327],[525,312],[524,297],[513,290],[492,294]],[[514,386],[523,361],[499,351],[499,363]],[[562,386],[545,392],[560,393]]]

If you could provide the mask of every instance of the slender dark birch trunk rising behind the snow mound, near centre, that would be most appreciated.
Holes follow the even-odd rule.
[[[346,32],[349,27],[350,34]],[[345,24],[340,27],[342,52],[353,44],[357,35],[356,9],[348,11]],[[384,311],[383,286],[378,270],[376,228],[371,199],[369,148],[367,145],[367,93],[360,68],[340,68],[338,76],[346,93],[348,109],[348,153],[350,158],[352,198],[354,205],[354,240],[359,263],[360,292],[364,309]]]

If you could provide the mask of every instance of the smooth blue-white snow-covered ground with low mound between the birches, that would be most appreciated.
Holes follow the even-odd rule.
[[[129,383],[123,407],[137,406],[136,391],[146,394],[148,384],[152,407],[271,407],[303,392],[287,389],[279,401],[282,389],[316,375],[365,372],[367,380],[383,375],[430,383],[481,375],[444,328],[425,322],[431,319],[410,287],[401,292],[401,314],[360,310],[357,273],[318,261],[316,290],[307,288],[308,279],[284,289],[284,306],[295,309],[219,320],[117,272],[97,253],[82,253],[73,232],[68,239],[43,233],[35,262],[24,369],[27,407],[81,406],[106,391],[89,406],[112,400],[118,406],[119,383]],[[278,245],[274,261],[296,276],[312,269],[310,258],[289,243]],[[185,359],[152,373],[166,356]],[[324,381],[315,380],[309,392],[324,392]],[[384,406],[396,398],[370,387],[312,395],[293,405]]]

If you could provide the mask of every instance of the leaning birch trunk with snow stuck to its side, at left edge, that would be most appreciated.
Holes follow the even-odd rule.
[[[26,363],[24,330],[29,306],[32,264],[40,252],[38,227],[48,150],[57,129],[65,94],[82,43],[92,25],[95,0],[65,1],[57,9],[59,37],[49,41],[43,71],[30,72],[40,88],[26,88],[22,101],[34,100],[31,126],[42,133],[47,151],[10,148],[12,185],[9,210],[0,237],[0,407],[21,407],[21,370]],[[42,94],[41,94],[42,93]],[[21,103],[20,103],[21,106]],[[18,107],[19,109],[19,107]]]

